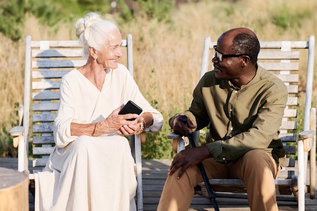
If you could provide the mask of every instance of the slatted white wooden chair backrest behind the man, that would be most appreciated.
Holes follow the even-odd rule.
[[[200,78],[210,69],[211,62],[209,61],[214,55],[210,55],[210,52],[214,51],[214,45],[217,45],[217,43],[211,41],[210,37],[205,38]],[[289,155],[296,154],[296,146],[290,143],[296,142],[297,123],[302,124],[299,119],[303,119],[301,131],[310,130],[309,112],[312,99],[314,36],[310,35],[308,41],[260,41],[260,48],[258,64],[282,79],[288,89],[289,96],[280,127],[280,138],[287,154],[284,167],[294,167],[295,158],[291,158],[292,156]],[[300,53],[301,57],[307,57],[306,64],[305,59],[301,59],[301,63],[299,63]],[[306,79],[306,87],[300,87],[301,91],[306,92],[305,102],[298,99],[300,97],[300,76]],[[304,103],[304,106],[299,107],[299,103]],[[292,178],[292,175],[294,175],[293,169],[288,172],[281,172],[279,178]]]

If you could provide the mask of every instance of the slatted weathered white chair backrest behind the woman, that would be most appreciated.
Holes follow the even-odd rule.
[[[122,41],[127,67],[133,76],[132,35]],[[53,122],[60,98],[60,79],[86,64],[86,60],[78,40],[32,41],[27,36],[25,52],[24,134],[32,140],[33,169],[41,171],[54,149]]]

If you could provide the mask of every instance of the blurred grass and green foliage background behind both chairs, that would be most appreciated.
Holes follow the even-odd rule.
[[[116,2],[115,8],[111,2]],[[314,0],[0,1],[0,157],[17,156],[8,132],[17,124],[18,105],[23,103],[25,36],[31,35],[33,40],[76,39],[74,22],[88,11],[114,21],[123,37],[133,35],[135,80],[164,116],[162,131],[147,134],[143,158],[172,158],[175,154],[166,139],[170,132],[167,122],[190,105],[206,36],[217,40],[230,28],[248,27],[260,40],[308,40],[317,30]],[[124,59],[121,62],[125,64]],[[305,77],[300,74],[301,81]],[[304,94],[305,87],[299,92]],[[314,92],[313,99],[316,95]]]

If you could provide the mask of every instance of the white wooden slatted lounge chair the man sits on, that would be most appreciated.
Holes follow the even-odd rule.
[[[315,198],[316,109],[311,108],[314,43],[313,35],[309,37],[308,41],[260,41],[261,50],[258,56],[258,64],[281,78],[288,88],[287,107],[280,127],[280,138],[285,145],[287,159],[279,178],[275,179],[275,187],[277,196],[293,194],[298,201],[299,211],[305,209],[305,192],[310,193],[311,199]],[[209,70],[209,61],[214,55],[210,52],[213,51],[213,46],[216,44],[211,41],[210,37],[205,38],[200,78]],[[301,57],[299,57],[300,54]],[[307,60],[305,60],[306,58]],[[300,77],[306,78],[306,80],[300,81]],[[305,88],[302,93],[298,92],[299,83],[302,83],[303,89]],[[304,99],[300,100],[300,98]],[[199,131],[194,132],[196,146],[198,146],[199,136]],[[187,143],[185,143],[184,137],[171,133],[168,138],[173,139],[173,149],[177,152],[185,149]],[[290,156],[296,153],[298,155],[297,175],[295,175],[295,158]],[[309,171],[307,168],[308,154]],[[310,184],[306,185],[308,172]],[[213,191],[216,192],[216,196],[218,192],[246,193],[242,180],[211,179],[209,182]],[[204,183],[199,184],[195,190],[195,194],[209,198]],[[227,195],[232,196],[232,194]]]

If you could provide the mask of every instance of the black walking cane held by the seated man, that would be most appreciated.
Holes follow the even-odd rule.
[[[181,120],[185,123],[186,126],[188,126],[187,124],[187,116],[185,115],[182,115],[181,117]],[[191,136],[191,134],[188,134],[186,133],[186,135],[189,139],[189,143],[191,145],[191,147],[196,147],[196,144]],[[211,200],[211,202],[213,203],[213,206],[215,208],[216,211],[219,211],[219,207],[218,207],[218,204],[217,204],[217,201],[216,201],[216,197],[215,197],[215,194],[213,192],[213,190],[211,189],[211,186],[209,184],[209,180],[207,178],[207,174],[206,174],[206,171],[205,171],[205,168],[204,168],[204,165],[202,162],[198,163],[197,164],[198,167],[200,168],[201,170],[201,173],[202,173],[202,176],[203,176],[203,179],[204,179],[204,182],[205,182],[205,185],[206,185],[206,188],[207,188],[207,191],[208,191],[208,194],[209,194],[209,199]]]

